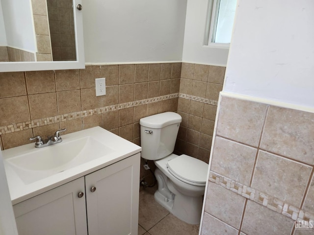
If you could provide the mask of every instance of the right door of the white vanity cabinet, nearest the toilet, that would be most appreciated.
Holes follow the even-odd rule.
[[[139,166],[138,153],[85,176],[88,235],[137,235]]]

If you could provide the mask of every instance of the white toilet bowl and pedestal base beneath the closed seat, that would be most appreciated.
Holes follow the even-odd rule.
[[[188,224],[199,224],[203,206],[203,196],[186,196],[174,188],[171,180],[158,168],[155,170],[158,190],[154,198],[162,207]]]

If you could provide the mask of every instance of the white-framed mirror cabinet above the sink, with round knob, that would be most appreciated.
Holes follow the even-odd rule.
[[[0,0],[0,72],[82,69],[81,0]]]

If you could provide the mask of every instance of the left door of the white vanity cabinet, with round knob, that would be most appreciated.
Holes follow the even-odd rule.
[[[84,177],[13,206],[19,235],[87,235]],[[82,194],[80,194],[81,196]]]

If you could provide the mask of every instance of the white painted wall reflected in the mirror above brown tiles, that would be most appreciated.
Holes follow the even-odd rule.
[[[36,51],[30,0],[1,0],[7,46]]]

